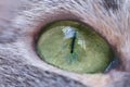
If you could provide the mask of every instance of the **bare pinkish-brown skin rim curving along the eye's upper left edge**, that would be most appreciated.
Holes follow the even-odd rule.
[[[80,22],[80,17],[74,15],[74,14],[69,14],[69,13],[58,13],[58,14],[49,14],[47,15],[47,17],[41,21],[41,23],[38,24],[38,27],[35,28],[35,32],[32,33],[34,38],[37,39],[36,36],[38,36],[38,34],[40,34],[43,29],[43,27],[46,27],[48,24],[56,22],[56,21],[76,21],[76,22]]]

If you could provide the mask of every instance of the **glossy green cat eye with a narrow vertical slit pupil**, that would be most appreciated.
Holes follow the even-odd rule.
[[[113,50],[101,36],[74,21],[44,27],[37,51],[47,63],[76,73],[102,73],[114,60]]]

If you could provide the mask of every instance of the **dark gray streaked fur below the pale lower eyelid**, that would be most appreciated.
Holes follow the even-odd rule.
[[[15,57],[17,58],[17,57]],[[22,57],[21,57],[22,58]],[[0,57],[0,87],[86,87],[70,78]]]

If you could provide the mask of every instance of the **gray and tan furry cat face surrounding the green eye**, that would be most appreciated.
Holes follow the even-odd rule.
[[[128,0],[0,1],[0,87],[129,87]],[[41,61],[35,39],[41,27],[58,20],[92,26],[120,60],[106,74],[77,74]]]

